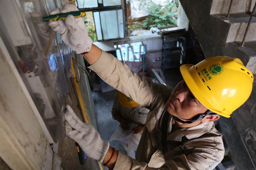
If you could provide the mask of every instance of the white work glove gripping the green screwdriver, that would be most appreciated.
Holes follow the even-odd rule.
[[[53,9],[50,11],[49,15],[71,11],[79,11],[79,9],[72,4],[67,4],[60,9]],[[88,36],[84,19],[82,17],[75,18],[73,15],[68,15],[64,21],[49,22],[49,26],[52,27],[53,31],[59,32],[63,42],[73,51],[76,51],[77,54],[90,52],[92,40]]]

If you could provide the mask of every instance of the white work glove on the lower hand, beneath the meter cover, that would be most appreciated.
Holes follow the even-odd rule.
[[[103,162],[108,152],[109,142],[102,140],[92,125],[82,122],[70,105],[67,105],[66,109],[65,129],[67,135],[79,144],[87,156]]]

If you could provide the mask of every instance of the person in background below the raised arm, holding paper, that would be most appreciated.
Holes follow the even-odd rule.
[[[122,142],[127,155],[135,158],[135,152],[137,150],[142,131],[148,115],[148,109],[134,102],[133,99],[125,96],[125,94],[117,91],[117,95],[112,107],[112,117],[120,123],[122,129],[127,130],[130,128],[130,124],[136,124],[134,127],[134,133],[128,140],[128,143]]]

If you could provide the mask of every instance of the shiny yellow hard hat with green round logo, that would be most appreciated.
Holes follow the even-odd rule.
[[[199,102],[227,118],[244,104],[253,88],[253,74],[238,58],[210,57],[196,65],[181,65],[180,72]]]

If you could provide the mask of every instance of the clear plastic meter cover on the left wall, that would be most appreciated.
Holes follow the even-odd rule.
[[[64,139],[71,52],[48,22],[42,22],[61,4],[58,0],[7,0],[2,5],[8,10],[5,17],[4,9],[0,12],[5,27],[1,36],[53,140]],[[15,15],[8,14],[14,10]]]

